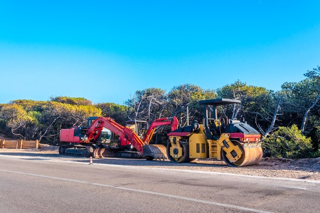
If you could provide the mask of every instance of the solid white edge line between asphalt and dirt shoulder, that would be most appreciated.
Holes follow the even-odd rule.
[[[33,159],[33,157],[29,156],[8,156],[1,155],[0,157],[5,158],[15,158],[15,159]],[[89,164],[89,160],[87,163],[85,162],[77,162],[72,160],[53,160],[49,158],[42,158],[43,160],[49,162],[57,162],[57,163],[72,163],[72,164]],[[41,159],[41,160],[42,160]],[[80,158],[84,159],[84,158]],[[105,163],[93,163],[93,165],[102,165],[102,166],[110,166],[110,167],[121,167],[121,168],[133,168],[133,169],[143,169],[143,170],[152,170],[152,171],[166,171],[166,172],[185,172],[185,173],[194,173],[194,174],[207,174],[207,175],[225,175],[225,176],[235,176],[235,177],[246,177],[246,178],[257,178],[257,179],[271,179],[271,180],[286,180],[286,181],[297,181],[297,182],[308,182],[308,183],[320,183],[320,180],[305,180],[305,179],[295,179],[295,178],[278,178],[278,177],[264,177],[264,176],[256,176],[256,175],[241,175],[241,174],[233,174],[233,173],[220,173],[220,172],[208,172],[208,171],[197,171],[197,170],[188,170],[188,169],[177,169],[177,168],[152,168],[152,167],[143,167],[143,166],[130,166],[130,165],[117,165],[117,164],[105,164]]]

